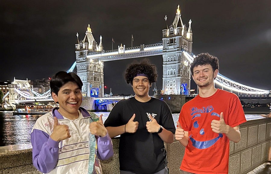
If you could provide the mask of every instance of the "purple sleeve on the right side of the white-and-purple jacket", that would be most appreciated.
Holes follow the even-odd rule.
[[[101,160],[106,160],[113,156],[113,144],[108,133],[104,137],[98,137],[98,158]]]

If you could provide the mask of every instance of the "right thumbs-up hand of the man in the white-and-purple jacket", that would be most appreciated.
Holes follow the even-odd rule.
[[[89,124],[89,131],[92,135],[104,137],[107,134],[107,129],[104,127],[103,114],[100,115],[99,121]]]

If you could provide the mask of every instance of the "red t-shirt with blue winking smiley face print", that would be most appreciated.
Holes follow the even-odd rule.
[[[182,106],[179,122],[188,131],[188,145],[180,166],[191,173],[228,173],[229,139],[225,134],[212,131],[213,119],[220,120],[223,112],[225,123],[231,127],[246,122],[238,96],[217,89],[207,98],[199,95]]]

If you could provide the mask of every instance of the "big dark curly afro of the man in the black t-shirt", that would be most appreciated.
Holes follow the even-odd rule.
[[[126,82],[128,84],[133,84],[133,79],[137,74],[148,75],[150,84],[156,82],[158,76],[156,66],[147,58],[143,59],[139,63],[132,63],[128,66],[125,72]]]

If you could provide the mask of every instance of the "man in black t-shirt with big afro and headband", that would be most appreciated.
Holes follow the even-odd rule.
[[[167,103],[148,94],[156,79],[148,59],[130,64],[125,80],[135,96],[120,100],[104,122],[110,137],[120,135],[121,174],[168,173],[164,142],[173,143],[175,125]]]

